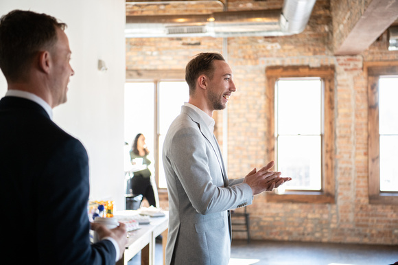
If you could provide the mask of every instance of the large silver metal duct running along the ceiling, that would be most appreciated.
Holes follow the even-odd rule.
[[[126,16],[126,38],[286,36],[303,32],[316,0],[285,0],[281,10]],[[139,2],[137,2],[139,3]],[[151,2],[163,3],[164,2]]]

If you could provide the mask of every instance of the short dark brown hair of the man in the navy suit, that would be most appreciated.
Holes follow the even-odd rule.
[[[0,68],[7,80],[25,77],[36,53],[52,47],[57,41],[56,27],[65,30],[47,14],[13,10],[0,19]]]

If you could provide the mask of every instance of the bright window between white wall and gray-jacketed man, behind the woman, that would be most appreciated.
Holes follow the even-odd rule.
[[[125,86],[125,161],[128,166],[128,151],[132,141],[137,133],[143,133],[160,189],[167,187],[162,163],[165,135],[170,124],[180,114],[181,106],[189,100],[189,89],[185,80],[167,80],[166,73],[167,71],[162,71],[159,75],[157,71],[150,74],[140,73],[139,78],[128,80]],[[175,74],[172,73],[171,76]]]

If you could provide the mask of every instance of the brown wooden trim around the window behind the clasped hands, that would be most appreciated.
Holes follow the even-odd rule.
[[[275,159],[274,88],[279,78],[319,77],[325,86],[325,135],[323,141],[323,189],[321,192],[269,192],[272,203],[335,203],[334,184],[334,67],[266,67],[267,141],[270,158]]]

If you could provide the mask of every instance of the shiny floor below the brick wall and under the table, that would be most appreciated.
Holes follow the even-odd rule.
[[[163,260],[156,244],[156,265]],[[141,264],[137,254],[128,265]],[[388,265],[398,262],[398,246],[233,240],[229,265]],[[191,265],[191,264],[185,264]]]

